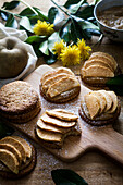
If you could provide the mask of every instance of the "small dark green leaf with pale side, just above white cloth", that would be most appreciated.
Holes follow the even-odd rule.
[[[5,26],[7,27],[13,27],[13,28],[17,28],[17,22],[16,20],[14,18],[14,16],[12,14],[9,15],[9,18],[5,23]]]

